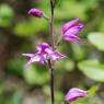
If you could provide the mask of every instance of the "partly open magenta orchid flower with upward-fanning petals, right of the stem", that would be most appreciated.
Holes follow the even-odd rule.
[[[83,28],[83,23],[79,23],[80,19],[72,20],[62,26],[62,35],[66,41],[79,42],[80,37],[76,34]]]

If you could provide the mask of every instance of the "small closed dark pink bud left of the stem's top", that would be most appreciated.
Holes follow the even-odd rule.
[[[41,11],[38,9],[34,9],[34,8],[28,11],[28,14],[31,14],[32,16],[35,16],[35,18],[44,16],[43,11]]]

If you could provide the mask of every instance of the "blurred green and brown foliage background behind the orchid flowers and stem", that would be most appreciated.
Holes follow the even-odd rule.
[[[39,42],[48,42],[48,23],[27,14],[39,8],[49,15],[49,0],[0,0],[0,104],[50,104],[49,70],[34,63],[24,70],[23,53],[35,53]],[[63,23],[80,18],[85,24],[80,43],[62,42],[67,55],[56,63],[56,104],[63,104],[70,88],[89,90],[88,99],[72,104],[104,104],[104,0],[59,0],[55,9],[55,32]]]

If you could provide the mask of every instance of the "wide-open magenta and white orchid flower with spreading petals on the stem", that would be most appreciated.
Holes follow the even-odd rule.
[[[51,59],[53,62],[56,62],[58,59],[66,58],[65,55],[56,50],[53,50],[47,43],[39,44],[37,46],[36,54],[23,54],[23,56],[31,58],[26,63],[25,68],[27,68],[30,65],[32,65],[35,61],[41,63],[46,63],[48,59]]]

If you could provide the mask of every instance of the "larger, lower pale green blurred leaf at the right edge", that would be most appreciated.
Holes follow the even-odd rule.
[[[80,70],[89,78],[95,81],[104,81],[104,65],[100,63],[99,60],[85,60],[79,62]]]

